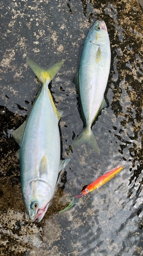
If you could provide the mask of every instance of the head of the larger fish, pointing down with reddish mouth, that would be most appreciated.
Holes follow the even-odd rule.
[[[27,212],[32,221],[40,222],[49,207],[53,196],[51,184],[44,180],[33,180],[29,183],[28,197],[24,198]]]

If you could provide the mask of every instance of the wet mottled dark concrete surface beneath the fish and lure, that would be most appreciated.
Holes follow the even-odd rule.
[[[0,255],[142,254],[142,1],[1,1]],[[94,126],[100,156],[88,146],[69,150],[82,130],[73,84],[86,34],[104,19],[111,41],[107,108]],[[23,123],[39,82],[26,64],[64,65],[51,83],[60,121],[62,156],[71,161],[45,218],[32,222],[24,207],[18,145],[11,132]],[[113,180],[64,213],[71,195],[120,163]]]

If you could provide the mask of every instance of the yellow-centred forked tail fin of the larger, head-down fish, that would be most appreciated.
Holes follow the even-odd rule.
[[[63,60],[57,62],[56,64],[52,65],[51,68],[48,68],[48,70],[44,70],[43,68],[39,67],[38,64],[35,63],[35,61],[32,61],[32,59],[27,58],[27,63],[29,64],[29,67],[32,69],[32,71],[35,73],[36,77],[41,81],[41,83],[46,82],[46,80],[52,80],[54,76],[58,73],[61,66],[63,65]]]

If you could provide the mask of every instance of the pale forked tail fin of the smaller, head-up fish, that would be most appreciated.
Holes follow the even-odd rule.
[[[95,140],[94,134],[91,129],[83,129],[83,131],[79,134],[79,136],[73,141],[71,144],[71,148],[75,148],[80,144],[87,142],[91,145],[92,149],[94,149],[98,155],[100,155],[100,148],[98,146],[97,141]]]

